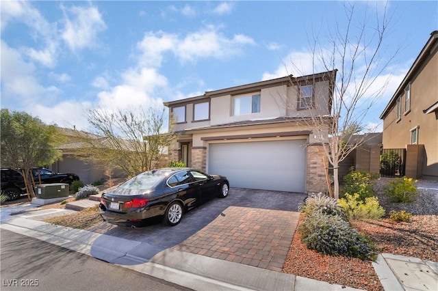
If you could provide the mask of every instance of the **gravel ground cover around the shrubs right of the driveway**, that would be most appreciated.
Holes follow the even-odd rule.
[[[389,214],[406,210],[413,216],[409,223],[395,223],[387,218],[352,221],[352,226],[369,236],[378,251],[438,262],[438,182],[419,181],[418,195],[411,204],[388,201],[383,186],[389,179],[379,179],[374,194]],[[297,231],[289,249],[283,273],[298,275],[364,290],[383,290],[371,262],[355,258],[321,255],[307,249]]]

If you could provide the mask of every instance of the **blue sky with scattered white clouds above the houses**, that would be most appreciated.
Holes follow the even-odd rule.
[[[389,1],[389,84],[378,116],[438,29],[437,1]],[[1,1],[1,108],[86,130],[83,113],[163,101],[311,73],[309,36],[322,47],[346,26],[343,1]],[[355,2],[381,15],[385,2]],[[377,13],[376,13],[377,10]],[[363,16],[363,15],[359,15]],[[353,20],[353,23],[359,20]],[[371,29],[372,27],[368,27]],[[370,30],[371,31],[371,30]],[[385,59],[385,56],[383,56]],[[296,72],[291,62],[301,64]]]

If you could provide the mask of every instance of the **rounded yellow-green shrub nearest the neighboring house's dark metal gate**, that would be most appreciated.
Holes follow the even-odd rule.
[[[413,181],[412,178],[406,177],[392,180],[385,186],[385,193],[391,202],[414,202],[417,195],[417,187],[413,183],[416,182],[417,180]]]

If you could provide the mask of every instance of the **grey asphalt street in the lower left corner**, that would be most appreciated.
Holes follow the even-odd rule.
[[[2,291],[190,290],[8,230],[0,236]]]

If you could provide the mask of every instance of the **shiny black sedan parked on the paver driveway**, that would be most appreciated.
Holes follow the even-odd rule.
[[[227,197],[228,191],[224,176],[190,168],[155,169],[103,193],[99,208],[109,223],[138,223],[164,215],[164,221],[174,226],[185,211],[212,197]]]

